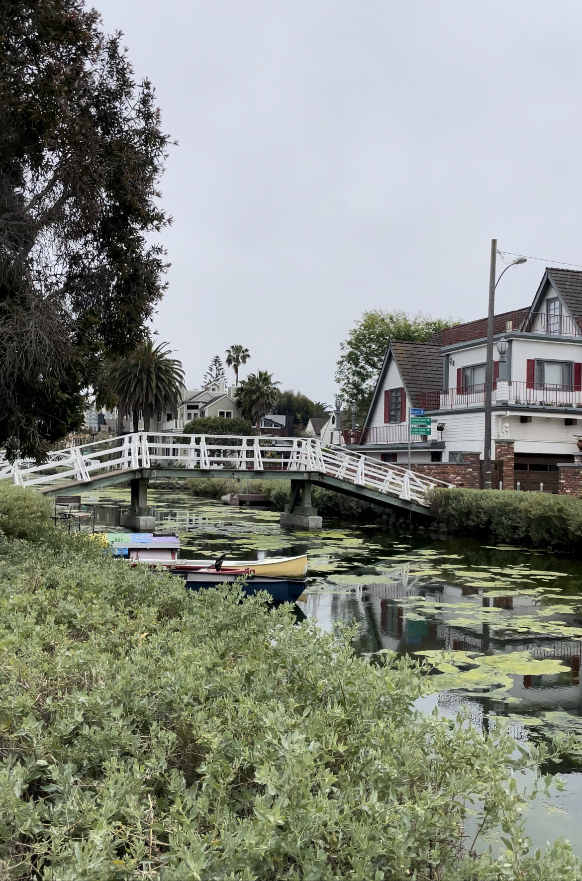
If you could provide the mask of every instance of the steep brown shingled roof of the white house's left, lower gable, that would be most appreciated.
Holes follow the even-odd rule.
[[[421,392],[443,388],[443,356],[439,345],[405,343],[401,340],[390,343],[376,381],[376,388],[365,418],[364,428],[368,425],[377,406],[380,389],[384,384],[384,377],[392,359],[396,362],[402,378],[402,385],[413,407],[418,406],[418,395]]]

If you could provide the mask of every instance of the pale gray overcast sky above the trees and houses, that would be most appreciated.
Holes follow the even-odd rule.
[[[486,314],[490,239],[582,263],[579,0],[97,0],[157,88],[189,388],[216,353],[329,402],[364,309]],[[510,270],[497,311],[545,263]]]

